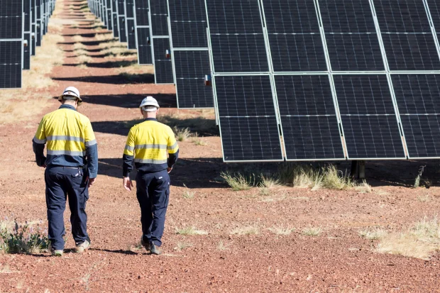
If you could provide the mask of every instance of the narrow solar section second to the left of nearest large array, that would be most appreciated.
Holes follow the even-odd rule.
[[[150,0],[150,33],[156,84],[173,84],[167,1]]]

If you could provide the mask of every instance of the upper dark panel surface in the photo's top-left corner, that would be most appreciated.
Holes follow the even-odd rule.
[[[23,38],[22,1],[0,0],[0,39]]]

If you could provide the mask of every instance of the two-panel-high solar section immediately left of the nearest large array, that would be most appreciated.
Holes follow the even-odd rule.
[[[204,0],[168,0],[168,9],[177,107],[212,108],[212,88],[204,84],[211,72]]]

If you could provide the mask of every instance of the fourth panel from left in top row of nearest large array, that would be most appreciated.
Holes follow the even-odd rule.
[[[374,0],[390,70],[440,70],[422,0]]]

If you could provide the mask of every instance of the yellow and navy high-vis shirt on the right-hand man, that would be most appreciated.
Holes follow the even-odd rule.
[[[172,167],[178,156],[179,145],[170,126],[155,118],[146,118],[128,133],[126,148],[123,150],[123,176],[128,177],[133,170],[133,159],[136,169],[153,173]]]

